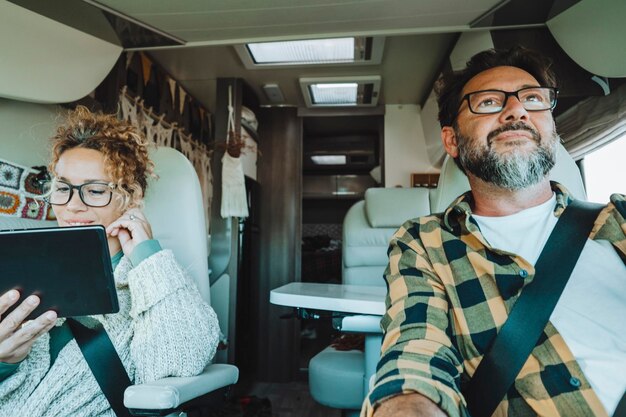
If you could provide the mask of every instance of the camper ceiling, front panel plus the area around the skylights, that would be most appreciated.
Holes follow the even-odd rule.
[[[381,104],[418,103],[455,39],[453,32],[503,0],[86,0],[188,43],[151,55],[209,109],[215,80],[243,78],[266,103],[262,86],[278,84],[285,103],[304,106],[301,77],[380,75]],[[247,70],[232,44],[259,40],[384,34],[381,65]],[[393,35],[393,36],[391,36]],[[229,45],[229,46],[226,46]]]

